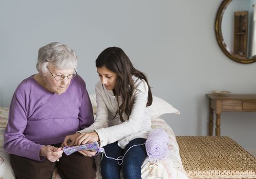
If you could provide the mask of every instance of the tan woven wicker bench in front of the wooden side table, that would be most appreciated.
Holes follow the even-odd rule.
[[[229,137],[177,136],[189,178],[256,178],[256,159]]]

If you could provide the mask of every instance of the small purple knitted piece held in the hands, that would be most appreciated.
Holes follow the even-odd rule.
[[[63,152],[66,153],[66,155],[70,155],[71,153],[74,153],[78,150],[93,150],[93,151],[97,151],[97,153],[104,151],[103,148],[99,147],[98,142],[63,148]]]

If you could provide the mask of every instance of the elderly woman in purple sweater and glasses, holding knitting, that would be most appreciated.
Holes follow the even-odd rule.
[[[52,42],[38,51],[38,74],[23,80],[10,106],[4,147],[16,178],[95,178],[93,158],[62,155],[65,136],[94,122],[86,83],[76,73],[77,56]]]

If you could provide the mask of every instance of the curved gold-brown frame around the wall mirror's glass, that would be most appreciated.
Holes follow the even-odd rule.
[[[232,52],[228,51],[227,45],[224,42],[223,36],[222,36],[222,31],[221,31],[221,23],[222,23],[222,17],[223,14],[227,8],[227,6],[229,5],[229,3],[231,3],[232,0],[223,0],[223,2],[221,3],[221,6],[218,10],[217,16],[216,16],[216,20],[215,20],[215,33],[216,33],[216,38],[217,41],[219,43],[219,46],[221,48],[221,50],[232,60],[237,61],[239,63],[253,63],[256,61],[256,56],[247,58],[247,57],[241,57],[239,55],[233,54]]]

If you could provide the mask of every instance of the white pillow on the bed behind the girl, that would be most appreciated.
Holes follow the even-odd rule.
[[[97,113],[96,95],[91,94],[89,96],[93,106],[93,113],[96,114]],[[178,109],[176,109],[175,107],[173,107],[172,105],[164,101],[163,99],[158,98],[156,96],[153,96],[152,105],[148,106],[148,110],[150,110],[150,116],[152,119],[158,118],[163,114],[170,114],[170,113],[174,113],[177,115],[180,114],[180,111]]]

